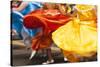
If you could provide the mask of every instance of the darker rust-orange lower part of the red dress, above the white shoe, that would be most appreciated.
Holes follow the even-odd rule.
[[[39,50],[47,48],[52,44],[51,35],[36,35],[32,39],[32,49]]]

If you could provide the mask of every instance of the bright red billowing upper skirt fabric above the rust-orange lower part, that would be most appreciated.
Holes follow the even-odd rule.
[[[58,10],[36,10],[24,17],[27,28],[43,27],[45,31],[54,31],[70,20],[70,16],[62,15]],[[47,33],[46,32],[46,33]]]

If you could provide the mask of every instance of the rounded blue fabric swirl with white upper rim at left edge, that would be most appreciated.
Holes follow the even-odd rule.
[[[11,13],[11,17],[12,17],[12,29],[15,29],[17,31],[17,33],[21,32],[21,29],[23,27],[23,15],[21,13],[19,13],[18,11],[13,11]]]

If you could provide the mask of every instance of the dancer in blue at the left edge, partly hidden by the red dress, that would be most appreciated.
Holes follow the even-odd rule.
[[[35,36],[37,29],[27,29],[23,26],[23,17],[42,7],[39,2],[13,0],[11,2],[11,23],[12,23],[12,36],[17,35],[21,37],[26,46],[31,44],[31,37]]]

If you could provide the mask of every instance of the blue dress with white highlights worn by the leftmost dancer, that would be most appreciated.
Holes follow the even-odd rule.
[[[18,2],[18,3],[22,3],[22,2]],[[42,4],[39,2],[29,2],[28,5],[23,10],[11,12],[12,29],[15,29],[17,31],[18,36],[23,37],[25,39],[24,36],[26,35],[21,34],[21,32],[26,33],[27,36],[30,36],[30,37],[36,34],[36,31],[37,31],[36,29],[34,30],[27,29],[23,26],[23,17],[29,12],[39,9],[41,7],[42,7]]]

